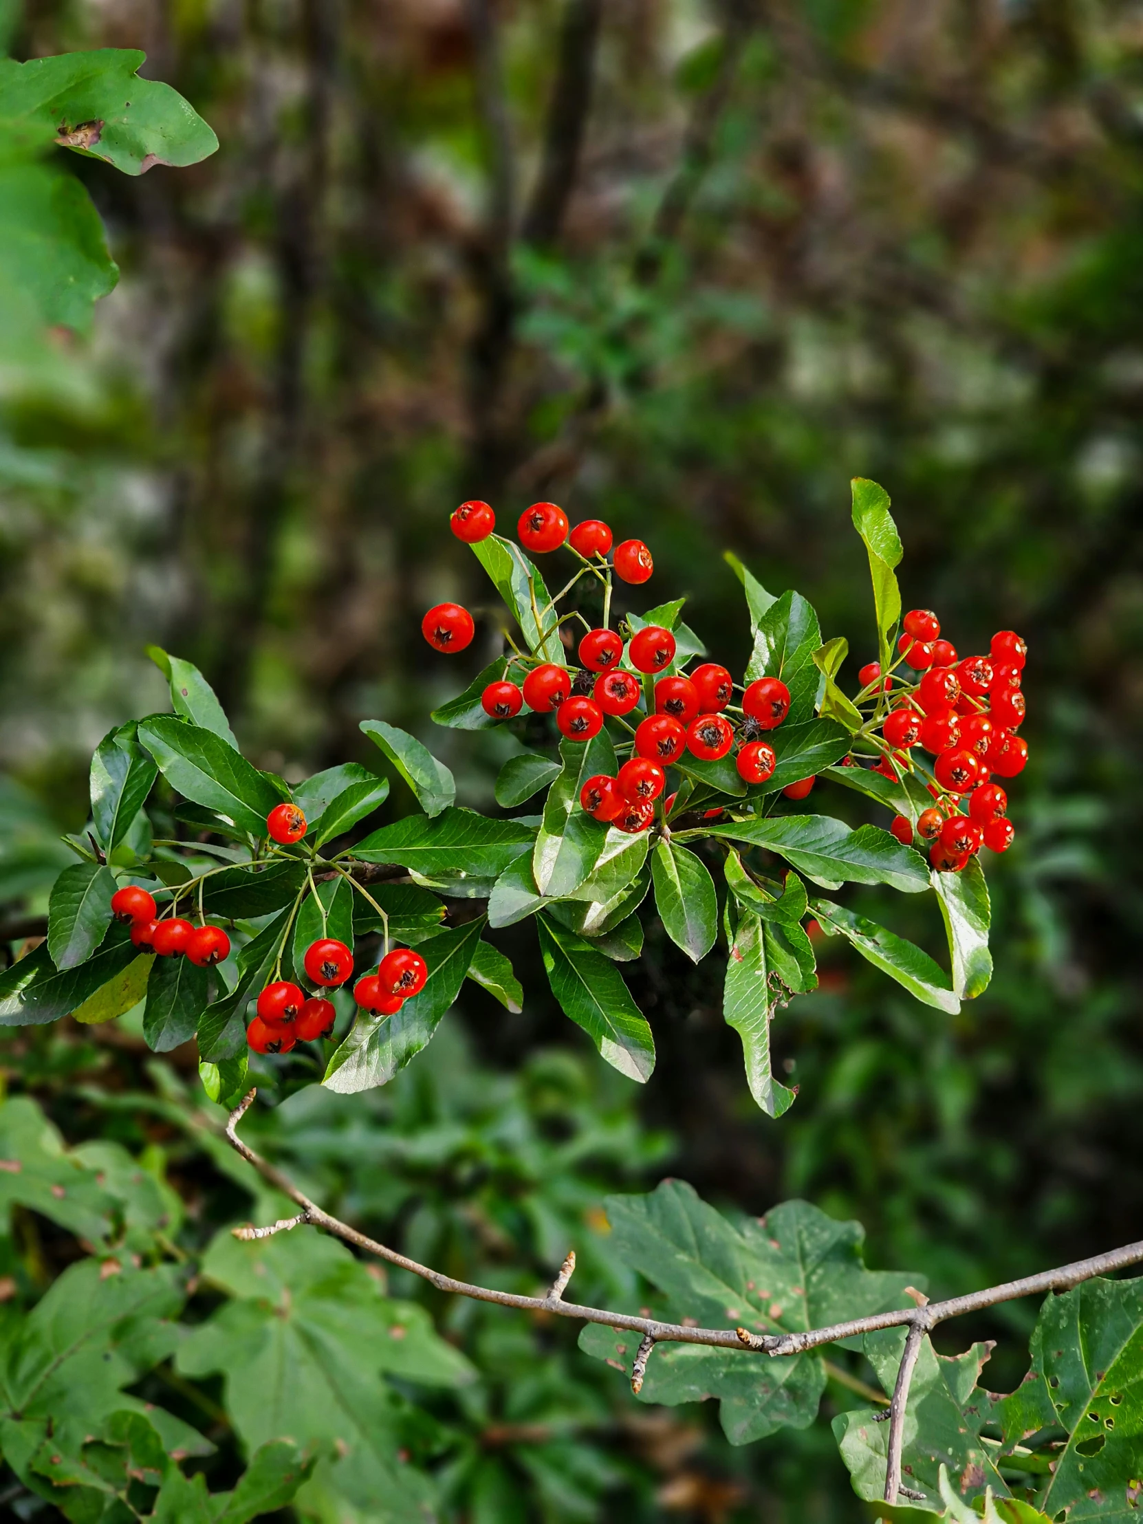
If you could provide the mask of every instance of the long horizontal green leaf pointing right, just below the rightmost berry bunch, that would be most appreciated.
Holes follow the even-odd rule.
[[[768,820],[716,821],[696,834],[777,852],[823,888],[837,888],[844,882],[890,884],[905,895],[928,888],[928,867],[920,853],[901,846],[878,826],[850,831],[829,815],[774,815]]]

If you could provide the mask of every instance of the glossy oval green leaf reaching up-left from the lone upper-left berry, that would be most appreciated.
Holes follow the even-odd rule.
[[[282,799],[265,773],[221,736],[174,715],[152,715],[140,722],[139,741],[180,794],[265,837],[267,815]]]

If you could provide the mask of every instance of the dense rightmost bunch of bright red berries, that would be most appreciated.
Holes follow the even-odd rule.
[[[920,677],[885,715],[881,733],[888,751],[876,770],[896,779],[911,771],[914,745],[933,753],[928,791],[936,803],[920,812],[916,831],[930,843],[933,866],[957,873],[981,846],[1006,852],[1015,837],[1006,817],[1007,794],[992,777],[1015,777],[1027,762],[1027,742],[1017,735],[1026,712],[1021,681],[1027,645],[1013,629],[1001,629],[989,655],[962,660],[940,639],[940,622],[930,610],[911,610],[902,626],[898,651]],[[858,678],[863,693],[893,686],[876,661],[861,668]],[[913,843],[905,815],[890,829],[899,841]]]

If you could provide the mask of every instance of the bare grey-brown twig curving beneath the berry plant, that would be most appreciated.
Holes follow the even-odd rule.
[[[419,1276],[421,1280],[427,1280],[437,1291],[445,1291],[459,1297],[469,1297],[474,1301],[492,1301],[501,1308],[515,1308],[523,1312],[555,1312],[559,1317],[575,1318],[579,1323],[602,1323],[617,1332],[640,1334],[642,1343],[639,1346],[639,1353],[636,1355],[631,1373],[631,1385],[636,1393],[639,1393],[643,1385],[646,1364],[655,1344],[707,1344],[719,1349],[736,1349],[744,1353],[765,1353],[771,1358],[782,1359],[791,1355],[803,1355],[806,1350],[820,1349],[824,1344],[835,1344],[841,1340],[855,1338],[863,1334],[875,1334],[879,1329],[907,1327],[908,1334],[905,1338],[905,1347],[898,1367],[893,1396],[885,1414],[890,1430],[884,1500],[890,1504],[896,1503],[898,1498],[902,1497],[907,1500],[922,1497],[920,1494],[910,1492],[908,1487],[902,1487],[901,1457],[904,1449],[905,1411],[908,1407],[910,1382],[913,1379],[917,1355],[920,1353],[922,1340],[927,1334],[930,1334],[939,1323],[945,1323],[949,1318],[965,1317],[969,1312],[980,1312],[985,1308],[994,1308],[1003,1301],[1015,1301],[1020,1297],[1032,1297],[1049,1291],[1067,1291],[1071,1286],[1081,1285],[1081,1282],[1093,1280],[1096,1276],[1109,1276],[1119,1269],[1126,1269],[1131,1265],[1143,1263],[1143,1241],[1140,1241],[1137,1244],[1125,1244],[1122,1248],[1108,1250],[1103,1254],[1094,1254],[1090,1259],[1081,1259],[1070,1265],[1061,1265],[1056,1269],[1045,1269],[1035,1276],[1026,1276],[1021,1280],[1009,1280],[998,1286],[989,1286],[985,1291],[972,1291],[968,1295],[949,1297],[943,1301],[928,1301],[920,1292],[913,1292],[916,1300],[916,1306],[913,1308],[904,1308],[896,1312],[876,1312],[870,1317],[852,1318],[849,1323],[832,1323],[826,1327],[806,1329],[805,1332],[797,1334],[751,1334],[745,1327],[704,1329],[683,1323],[660,1323],[657,1318],[632,1317],[628,1312],[611,1312],[607,1308],[588,1308],[575,1301],[565,1301],[564,1291],[567,1289],[567,1283],[575,1269],[575,1251],[568,1253],[559,1274],[546,1295],[524,1297],[518,1292],[498,1291],[492,1286],[477,1286],[468,1280],[457,1280],[454,1276],[445,1276],[439,1269],[421,1265],[407,1254],[401,1254],[398,1250],[389,1248],[389,1245],[379,1244],[376,1239],[370,1239],[367,1234],[360,1233],[340,1218],[323,1212],[315,1201],[311,1201],[309,1196],[303,1195],[303,1192],[297,1189],[288,1175],[268,1160],[262,1158],[261,1154],[256,1154],[238,1137],[238,1125],[250,1109],[256,1094],[256,1090],[248,1091],[230,1113],[224,1129],[226,1138],[230,1146],[236,1149],[253,1169],[258,1170],[262,1180],[271,1184],[276,1190],[280,1190],[282,1195],[288,1196],[290,1201],[300,1209],[300,1212],[296,1218],[282,1218],[267,1227],[259,1228],[247,1225],[233,1228],[232,1231],[235,1237],[244,1241],[264,1239],[271,1237],[274,1233],[291,1231],[297,1227],[319,1227],[325,1228],[326,1233],[332,1233],[335,1237],[343,1239],[346,1244],[352,1244],[354,1248],[360,1248],[367,1254],[373,1254],[378,1259],[386,1260],[389,1265],[396,1265],[399,1269],[407,1269],[413,1276]],[[852,1384],[852,1381],[849,1384]]]

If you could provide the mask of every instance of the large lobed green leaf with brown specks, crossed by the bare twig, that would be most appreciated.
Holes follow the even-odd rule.
[[[610,1245],[658,1286],[666,1317],[707,1327],[742,1324],[756,1334],[821,1327],[908,1305],[916,1277],[867,1271],[864,1231],[806,1201],[786,1201],[765,1218],[733,1222],[681,1180],[646,1196],[608,1196]],[[658,1311],[655,1315],[660,1315]],[[639,1337],[593,1324],[579,1347],[629,1372]],[[826,1385],[820,1350],[773,1359],[703,1344],[660,1344],[648,1364],[643,1402],[721,1399],[732,1445],[764,1439],[783,1425],[808,1428]],[[884,1425],[873,1425],[884,1428]],[[884,1486],[884,1474],[882,1474]]]

